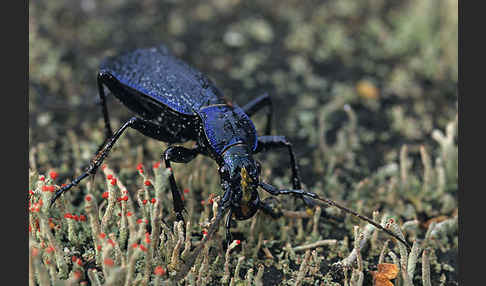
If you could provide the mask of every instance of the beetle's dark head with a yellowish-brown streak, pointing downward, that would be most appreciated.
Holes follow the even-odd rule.
[[[221,184],[231,194],[231,208],[236,219],[252,217],[259,208],[258,184],[260,164],[253,159],[246,145],[235,145],[223,154],[220,167]]]

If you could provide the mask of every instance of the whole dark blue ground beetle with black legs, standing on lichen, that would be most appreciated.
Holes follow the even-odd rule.
[[[104,87],[137,116],[113,133],[108,116]],[[264,94],[243,107],[227,101],[222,92],[204,74],[174,57],[161,45],[156,48],[139,49],[121,56],[109,58],[101,64],[98,73],[98,91],[105,121],[106,139],[100,146],[86,171],[70,184],[60,188],[51,200],[51,205],[65,191],[81,180],[94,175],[113,145],[128,127],[159,141],[169,143],[162,159],[167,168],[171,162],[188,163],[202,154],[213,158],[219,166],[223,196],[219,203],[217,220],[210,229],[210,237],[224,213],[227,243],[231,242],[231,219],[245,220],[257,210],[273,217],[281,213],[260,200],[257,188],[272,195],[294,194],[306,206],[314,205],[317,199],[334,205],[386,231],[405,245],[407,243],[379,224],[363,217],[315,193],[302,190],[299,171],[292,145],[284,136],[270,136],[272,102]],[[265,136],[258,136],[250,116],[267,107]],[[195,141],[188,149],[172,143]],[[253,154],[285,148],[290,156],[293,189],[278,189],[261,182],[260,164]],[[177,220],[183,220],[184,205],[173,173],[170,177],[174,211]]]

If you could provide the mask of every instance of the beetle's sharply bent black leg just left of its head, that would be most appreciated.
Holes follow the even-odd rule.
[[[163,155],[163,160],[167,168],[171,168],[170,162],[176,163],[188,163],[194,159],[200,150],[198,148],[188,149],[182,146],[170,146],[167,148]],[[169,176],[170,189],[172,192],[172,200],[174,203],[174,211],[176,213],[177,220],[184,220],[182,212],[184,211],[184,203],[182,202],[182,196],[177,188],[174,173],[171,172]]]

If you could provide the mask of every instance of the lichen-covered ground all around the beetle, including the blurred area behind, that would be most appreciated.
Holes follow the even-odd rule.
[[[240,105],[268,91],[272,134],[294,143],[305,188],[413,245],[332,207],[309,215],[279,197],[272,203],[284,217],[239,221],[229,255],[221,226],[179,284],[370,285],[381,263],[399,268],[394,285],[457,284],[457,5],[29,2],[30,285],[170,285],[207,232],[220,193],[216,164],[174,164],[187,210],[186,225],[176,224],[160,165],[167,145],[134,131],[94,180],[48,208],[52,186],[79,175],[104,139],[100,61],[160,42]],[[112,126],[128,118],[115,100],[109,106]],[[264,122],[255,116],[258,130]],[[289,187],[284,153],[256,158],[262,180]]]

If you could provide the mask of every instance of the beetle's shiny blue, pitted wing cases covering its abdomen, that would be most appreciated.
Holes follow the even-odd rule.
[[[183,114],[224,103],[209,78],[175,58],[164,45],[109,58],[100,71]]]

